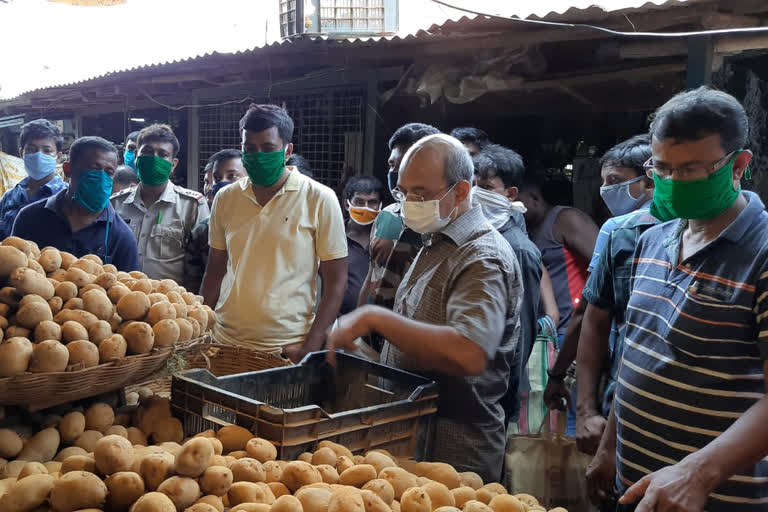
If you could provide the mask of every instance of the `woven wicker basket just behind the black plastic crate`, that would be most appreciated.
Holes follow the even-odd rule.
[[[218,343],[197,344],[186,349],[180,355],[183,356],[184,362],[181,368],[176,371],[205,368],[217,377],[291,365],[288,359],[279,355],[249,347]],[[170,396],[171,375],[168,371],[163,370],[160,375],[146,382],[126,388],[125,392],[130,393],[139,387],[149,388],[161,396]]]

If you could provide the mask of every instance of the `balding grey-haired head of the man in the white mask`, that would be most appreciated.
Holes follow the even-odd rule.
[[[425,201],[452,193],[452,201],[446,197],[441,202],[441,214],[445,217],[458,211],[460,215],[469,205],[474,172],[467,148],[450,135],[438,133],[408,149],[400,164],[397,185],[404,194],[421,196]]]

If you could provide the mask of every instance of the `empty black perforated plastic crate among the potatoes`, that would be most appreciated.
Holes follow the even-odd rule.
[[[334,368],[325,357],[218,378],[186,371],[173,376],[171,408],[187,435],[239,425],[275,443],[284,460],[325,439],[353,452],[424,455],[418,439],[437,411],[434,381],[348,354]]]

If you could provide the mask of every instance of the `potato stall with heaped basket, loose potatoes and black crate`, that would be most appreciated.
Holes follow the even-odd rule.
[[[417,462],[429,379],[213,343],[215,313],[175,282],[18,238],[0,281],[4,512],[547,510]]]

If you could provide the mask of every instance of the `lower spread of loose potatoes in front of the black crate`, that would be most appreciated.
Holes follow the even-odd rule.
[[[95,403],[38,415],[53,426],[26,439],[0,429],[0,455],[15,458],[0,461],[3,512],[546,511],[475,473],[385,450],[353,455],[323,441],[299,460],[278,461],[272,443],[238,426],[180,444],[181,423],[159,397],[127,413]]]

